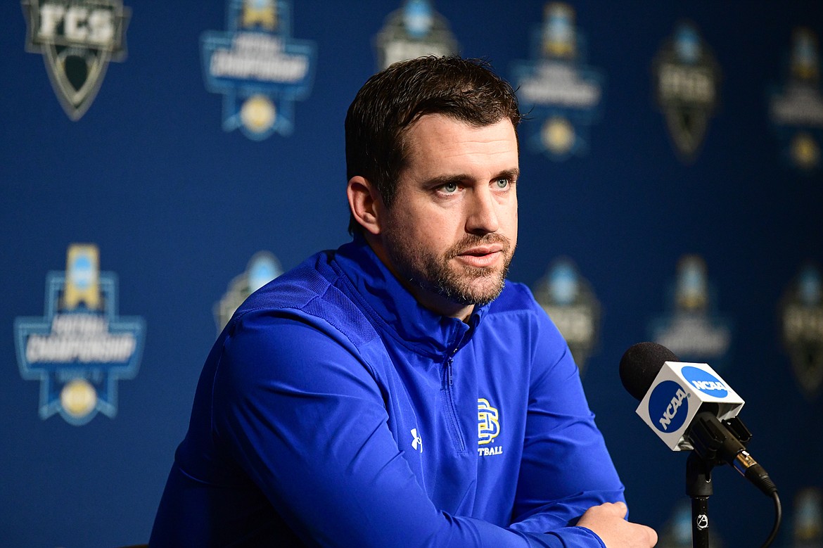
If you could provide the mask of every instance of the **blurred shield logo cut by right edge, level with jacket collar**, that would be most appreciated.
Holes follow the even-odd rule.
[[[780,308],[783,346],[797,382],[807,397],[816,397],[823,381],[823,286],[817,267],[802,268]]]

